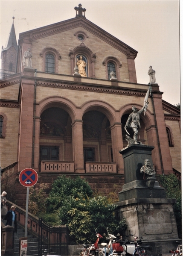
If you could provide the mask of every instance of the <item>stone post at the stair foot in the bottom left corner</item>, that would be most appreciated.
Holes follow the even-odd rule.
[[[2,227],[2,226],[1,226]],[[2,227],[1,237],[1,255],[12,256],[14,255],[13,244],[14,244],[14,227],[7,225]]]

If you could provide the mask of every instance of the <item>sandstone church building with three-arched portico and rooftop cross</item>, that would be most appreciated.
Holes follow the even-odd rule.
[[[25,168],[38,172],[36,186],[51,188],[62,174],[102,193],[124,184],[119,150],[132,106],[144,105],[149,67],[147,84],[137,83],[137,51],[87,20],[81,4],[75,10],[75,18],[20,33],[18,43],[13,23],[2,47],[1,182],[15,184],[19,206]],[[156,175],[180,179],[180,110],[162,100],[158,81],[151,87],[138,141],[154,146]]]

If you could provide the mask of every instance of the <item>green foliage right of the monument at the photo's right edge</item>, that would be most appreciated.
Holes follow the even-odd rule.
[[[174,213],[177,222],[178,234],[182,235],[182,198],[180,183],[174,174],[160,175],[160,183],[166,190],[167,198],[175,198]]]

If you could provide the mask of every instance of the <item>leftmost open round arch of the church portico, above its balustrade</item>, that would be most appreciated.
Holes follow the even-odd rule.
[[[49,106],[41,113],[41,161],[73,161],[71,124],[69,113],[61,107]]]

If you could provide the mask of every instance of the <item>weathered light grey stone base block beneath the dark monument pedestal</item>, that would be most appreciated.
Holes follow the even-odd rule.
[[[169,253],[178,241],[173,205],[175,199],[133,198],[117,203],[120,219],[126,219],[126,235],[143,237],[142,242],[152,247],[162,247]],[[128,237],[133,241],[133,237]],[[123,238],[125,239],[125,238]]]

